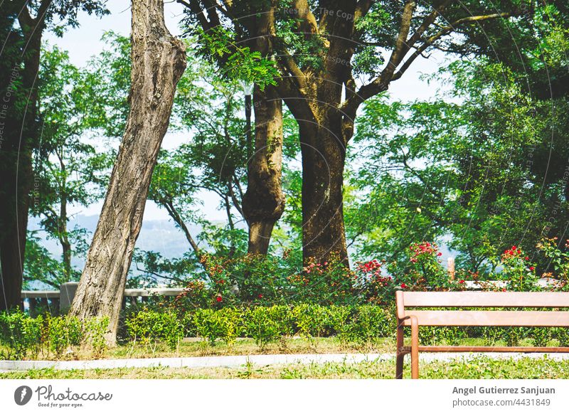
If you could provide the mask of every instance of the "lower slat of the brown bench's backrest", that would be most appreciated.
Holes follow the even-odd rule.
[[[569,327],[569,312],[405,310],[410,315],[429,327]],[[409,327],[410,319],[403,324]]]

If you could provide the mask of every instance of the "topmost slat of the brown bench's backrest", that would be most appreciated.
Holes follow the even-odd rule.
[[[569,307],[569,292],[401,293],[404,307]]]

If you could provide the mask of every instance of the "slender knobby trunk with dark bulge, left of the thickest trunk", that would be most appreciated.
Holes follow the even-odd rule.
[[[267,254],[272,228],[285,210],[282,192],[282,100],[267,86],[255,87],[255,154],[248,169],[243,215],[249,225],[248,253]]]

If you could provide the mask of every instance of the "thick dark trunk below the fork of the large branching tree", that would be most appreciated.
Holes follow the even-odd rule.
[[[339,120],[300,122],[304,262],[336,257],[349,265],[342,209],[346,147]]]

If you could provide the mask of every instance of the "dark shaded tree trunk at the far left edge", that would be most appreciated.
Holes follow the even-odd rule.
[[[32,151],[38,141],[38,90],[36,85],[41,55],[43,22],[30,18],[26,11],[19,15],[26,53],[23,70],[14,68],[8,90],[4,94],[7,108],[3,122],[0,151],[3,153],[0,180],[0,310],[10,309],[21,302],[23,262],[26,256],[28,211],[33,187]],[[16,83],[21,80],[23,90]],[[15,83],[16,82],[16,83]],[[7,102],[6,102],[7,100]],[[23,120],[18,115],[16,100],[26,100]],[[23,102],[19,102],[23,106]]]

